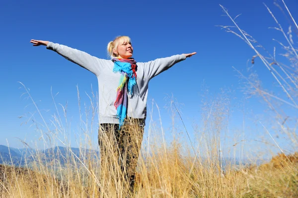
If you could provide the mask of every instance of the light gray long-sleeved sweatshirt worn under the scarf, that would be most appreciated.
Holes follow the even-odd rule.
[[[121,74],[113,72],[114,63],[111,60],[99,59],[57,43],[49,42],[47,49],[57,52],[67,60],[88,69],[96,75],[99,89],[99,123],[119,124],[114,102]],[[143,125],[145,125],[149,80],[185,59],[185,55],[174,55],[147,63],[137,62],[137,86],[134,89],[134,96],[128,97],[127,116],[144,119]]]

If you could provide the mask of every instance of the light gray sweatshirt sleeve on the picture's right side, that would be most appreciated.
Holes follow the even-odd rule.
[[[144,65],[144,71],[148,74],[149,79],[158,75],[159,73],[167,70],[171,66],[185,60],[185,55],[174,55],[167,58],[156,59],[154,61],[149,61]]]

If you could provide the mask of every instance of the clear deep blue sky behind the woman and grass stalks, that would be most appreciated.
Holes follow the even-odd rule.
[[[173,94],[179,103],[184,104],[181,106],[183,119],[192,137],[195,136],[192,125],[194,122],[200,124],[202,84],[205,83],[211,97],[220,93],[221,88],[232,90],[230,107],[233,112],[230,114],[228,131],[228,136],[232,139],[230,144],[241,139],[234,140],[233,137],[239,136],[242,130],[243,115],[247,132],[245,139],[254,139],[262,134],[266,136],[252,117],[264,115],[264,103],[254,98],[243,102],[244,96],[240,90],[242,82],[239,82],[237,73],[232,68],[234,66],[248,75],[246,68],[251,64],[247,60],[255,53],[235,35],[217,26],[232,25],[223,16],[219,5],[222,4],[232,16],[242,14],[236,19],[242,29],[270,52],[277,46],[277,54],[281,54],[281,47],[272,39],[282,42],[285,39],[280,32],[268,29],[276,25],[262,2],[274,11],[287,29],[289,23],[273,5],[274,0],[151,0],[130,1],[126,4],[117,0],[113,4],[107,0],[1,1],[0,144],[6,145],[7,139],[10,146],[16,147],[21,144],[15,137],[26,138],[26,141],[31,142],[37,141],[40,136],[32,125],[32,119],[29,119],[30,113],[34,113],[35,122],[41,122],[41,119],[32,102],[26,98],[28,95],[22,95],[25,90],[20,88],[18,81],[30,89],[30,94],[49,125],[51,115],[56,111],[51,87],[54,94],[59,92],[55,98],[57,103],[65,105],[68,102],[73,146],[76,146],[74,134],[82,127],[78,122],[76,85],[81,93],[82,106],[83,102],[89,104],[85,92],[90,94],[91,85],[97,92],[94,74],[57,53],[46,50],[44,46],[33,47],[29,43],[30,39],[60,43],[107,59],[107,43],[118,35],[131,37],[134,58],[138,62],[182,53],[198,53],[156,76],[149,84],[148,108],[151,109],[154,99],[161,107],[165,128],[170,126],[170,114],[162,108],[167,103],[164,97]],[[286,0],[286,3],[294,18],[298,19],[298,1]],[[253,69],[259,74],[263,84],[278,93],[280,89],[273,84],[274,80],[268,70],[259,59],[256,62]],[[61,112],[61,107],[58,108]],[[243,109],[244,114],[241,112]],[[18,118],[20,116],[23,117]],[[154,114],[155,121],[158,120],[156,116]],[[26,121],[26,124],[22,124]],[[181,122],[178,119],[176,122],[181,128]],[[267,122],[269,123],[270,121]],[[94,138],[97,138],[96,129],[93,131]],[[166,136],[171,134],[166,132]],[[273,143],[270,138],[265,138]],[[257,146],[263,148],[261,143],[257,143]]]

